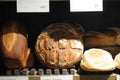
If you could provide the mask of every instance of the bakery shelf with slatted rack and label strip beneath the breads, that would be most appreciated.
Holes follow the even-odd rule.
[[[118,70],[117,70],[118,71]],[[84,73],[84,74],[83,74]],[[1,75],[0,80],[119,80],[118,72],[85,72],[71,69],[35,69],[25,68],[6,70],[6,75]]]

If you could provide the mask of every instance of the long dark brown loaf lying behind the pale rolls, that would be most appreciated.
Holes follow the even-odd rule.
[[[89,31],[84,37],[85,48],[120,45],[120,29],[108,27]]]

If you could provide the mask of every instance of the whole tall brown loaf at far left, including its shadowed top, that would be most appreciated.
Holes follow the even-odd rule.
[[[28,37],[23,25],[10,22],[3,26],[0,36],[0,47],[2,61],[9,69],[27,67],[33,64],[30,48],[28,48]],[[28,66],[30,67],[30,66]]]

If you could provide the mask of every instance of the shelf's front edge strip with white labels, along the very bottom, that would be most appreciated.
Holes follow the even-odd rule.
[[[0,76],[0,80],[119,80],[117,74],[107,75],[22,75]]]

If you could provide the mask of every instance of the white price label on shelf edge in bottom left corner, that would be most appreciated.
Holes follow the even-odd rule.
[[[0,76],[0,80],[28,80],[27,76]]]

